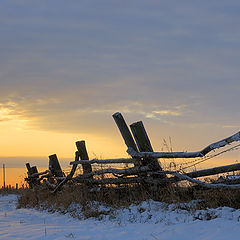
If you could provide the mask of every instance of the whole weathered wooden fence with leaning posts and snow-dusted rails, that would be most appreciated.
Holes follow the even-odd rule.
[[[176,171],[163,171],[161,158],[203,158],[209,152],[224,147],[232,142],[240,141],[240,132],[212,143],[198,152],[154,152],[147,132],[141,121],[127,126],[121,113],[113,114],[113,118],[118,126],[121,136],[127,146],[127,152],[131,158],[119,159],[92,159],[89,160],[85,141],[76,142],[77,151],[75,152],[75,161],[70,162],[72,169],[65,175],[62,171],[56,154],[49,156],[49,169],[38,173],[37,167],[31,167],[26,164],[28,177],[25,179],[30,187],[45,183],[53,192],[59,191],[68,181],[78,184],[107,185],[107,184],[166,184],[177,181],[187,180],[192,183],[207,188],[240,188],[240,184],[207,184],[194,178],[210,176],[219,173],[226,173],[240,170],[240,164],[215,167],[194,171],[189,173],[180,173]],[[131,131],[130,131],[131,130]],[[76,175],[78,165],[82,166],[82,174]],[[93,170],[92,164],[100,165],[102,169]],[[103,168],[104,164],[132,164],[125,168]],[[172,175],[172,177],[169,177]],[[101,176],[101,177],[98,177]]]

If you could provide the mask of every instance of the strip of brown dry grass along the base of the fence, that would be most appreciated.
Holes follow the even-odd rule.
[[[110,214],[110,212],[99,212],[99,210],[89,207],[91,202],[97,201],[99,204],[119,209],[149,199],[166,203],[200,200],[196,205],[196,210],[222,206],[240,208],[240,190],[213,190],[193,186],[180,187],[177,184],[155,186],[154,188],[135,184],[98,189],[89,188],[86,185],[66,185],[56,194],[52,194],[46,188],[35,187],[34,189],[25,189],[20,193],[18,207],[42,208],[65,213],[72,203],[77,203],[82,206],[82,214],[85,218],[98,218],[100,215]]]

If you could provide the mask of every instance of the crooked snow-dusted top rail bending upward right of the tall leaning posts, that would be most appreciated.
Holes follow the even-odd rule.
[[[151,151],[141,151],[140,153],[135,151],[133,148],[129,148],[127,152],[132,157],[138,158],[196,158],[196,157],[204,157],[206,154],[211,152],[214,149],[224,147],[232,142],[240,141],[240,132],[220,140],[218,142],[212,143],[209,146],[205,147],[201,151],[198,152],[151,152]]]

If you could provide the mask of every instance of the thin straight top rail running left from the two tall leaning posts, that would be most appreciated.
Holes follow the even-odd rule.
[[[80,161],[73,161],[70,162],[70,165],[74,165],[74,164],[83,164],[83,163],[88,163],[88,164],[109,164],[109,163],[137,163],[139,162],[138,159],[133,159],[133,158],[118,158],[118,159],[103,159],[103,160],[99,160],[99,159],[92,159],[92,160],[80,160]]]

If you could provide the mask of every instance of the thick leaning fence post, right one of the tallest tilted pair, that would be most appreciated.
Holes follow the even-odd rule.
[[[130,125],[133,136],[137,143],[138,149],[140,152],[153,152],[153,148],[151,142],[148,138],[147,132],[143,126],[143,122],[135,122]],[[148,165],[151,164],[153,170],[162,170],[158,160],[153,157],[144,157],[143,164]]]

